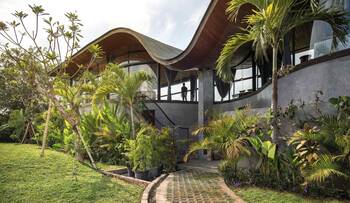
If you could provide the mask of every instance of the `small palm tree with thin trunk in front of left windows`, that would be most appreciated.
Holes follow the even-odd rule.
[[[153,77],[144,71],[128,74],[117,64],[110,63],[101,75],[101,85],[93,96],[93,103],[98,103],[109,94],[117,94],[121,104],[130,109],[132,135],[135,138],[134,105],[141,86],[152,81]]]

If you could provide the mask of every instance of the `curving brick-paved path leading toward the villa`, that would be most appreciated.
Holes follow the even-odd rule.
[[[169,174],[156,188],[152,202],[174,203],[231,203],[243,202],[223,186],[215,173],[186,169]]]

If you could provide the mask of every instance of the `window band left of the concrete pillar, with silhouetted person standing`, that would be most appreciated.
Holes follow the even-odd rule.
[[[140,92],[146,96],[146,99],[158,101],[198,101],[196,71],[174,71],[154,62],[146,52],[140,51],[135,53],[128,53],[127,56],[117,57],[111,61],[119,63],[128,73],[145,71],[153,76],[153,83],[145,83],[140,89]]]

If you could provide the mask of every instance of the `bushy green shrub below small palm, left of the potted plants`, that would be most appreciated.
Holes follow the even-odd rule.
[[[105,103],[82,116],[81,130],[96,160],[125,164],[125,142],[131,136],[126,116],[117,113],[118,105]]]

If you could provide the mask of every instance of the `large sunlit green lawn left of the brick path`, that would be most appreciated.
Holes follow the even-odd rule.
[[[102,176],[52,150],[0,143],[0,203],[139,202],[143,188]],[[77,168],[76,177],[72,174]]]

